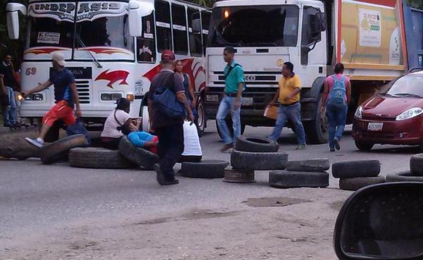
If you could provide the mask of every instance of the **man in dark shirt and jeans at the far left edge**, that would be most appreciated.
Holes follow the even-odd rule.
[[[18,127],[16,124],[16,99],[15,93],[13,92],[13,88],[15,87],[15,79],[13,78],[14,73],[12,56],[6,54],[4,56],[4,61],[0,63],[0,74],[4,75],[3,82],[6,87],[6,96],[8,97],[8,108],[3,113],[5,128]]]

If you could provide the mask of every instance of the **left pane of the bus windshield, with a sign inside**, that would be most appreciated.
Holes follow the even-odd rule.
[[[29,17],[26,48],[73,47],[73,23],[54,18]]]

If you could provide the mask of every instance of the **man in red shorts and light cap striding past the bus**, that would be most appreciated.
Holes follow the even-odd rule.
[[[30,144],[36,147],[42,147],[44,144],[44,137],[56,120],[61,119],[63,123],[69,126],[76,123],[75,116],[78,118],[81,116],[75,77],[70,70],[65,68],[66,62],[65,58],[63,58],[63,54],[54,52],[54,54],[51,55],[51,63],[56,70],[51,73],[49,80],[29,91],[23,92],[23,94],[27,96],[41,92],[47,89],[47,87],[54,85],[54,99],[56,100],[56,105],[42,118],[42,128],[39,132],[39,137],[37,139],[25,138],[27,142],[30,142]],[[74,105],[76,105],[75,116],[73,115]]]

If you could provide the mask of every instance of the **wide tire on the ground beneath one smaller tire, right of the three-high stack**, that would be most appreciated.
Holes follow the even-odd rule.
[[[328,187],[329,173],[309,171],[270,171],[269,186],[290,187]]]

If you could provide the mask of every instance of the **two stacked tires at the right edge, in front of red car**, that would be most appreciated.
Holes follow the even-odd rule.
[[[423,182],[423,154],[410,158],[410,171],[386,175],[386,182]]]

